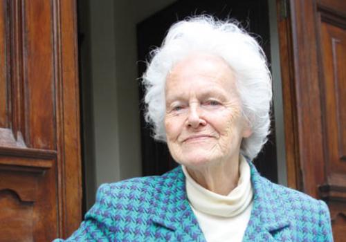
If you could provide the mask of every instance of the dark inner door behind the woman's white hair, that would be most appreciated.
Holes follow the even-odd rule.
[[[138,59],[144,61],[153,46],[161,46],[165,34],[174,22],[185,17],[199,14],[210,14],[219,19],[233,17],[240,21],[246,30],[255,37],[260,36],[260,44],[270,61],[269,15],[267,0],[180,0],[167,8],[156,12],[137,26]],[[145,62],[139,63],[139,76],[145,71]],[[143,100],[143,89],[140,89],[140,98]],[[143,175],[152,176],[163,174],[176,166],[173,158],[163,142],[156,142],[152,132],[143,118],[141,109],[141,139],[142,139],[142,167]],[[272,112],[273,114],[273,112]],[[273,132],[269,142],[264,146],[259,156],[254,160],[261,174],[273,182],[277,182],[277,162],[275,147],[275,123],[272,118]]]

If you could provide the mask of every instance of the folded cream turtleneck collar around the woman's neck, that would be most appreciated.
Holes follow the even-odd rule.
[[[186,193],[195,210],[214,216],[233,217],[241,214],[251,204],[253,189],[251,187],[251,171],[248,162],[239,156],[239,180],[237,187],[222,196],[199,185],[182,167],[186,177]]]

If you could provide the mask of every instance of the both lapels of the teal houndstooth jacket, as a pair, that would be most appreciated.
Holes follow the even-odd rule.
[[[248,163],[254,200],[243,241],[276,241],[273,236],[275,232],[290,225],[284,205],[273,184],[260,176],[252,162]],[[161,176],[158,183],[152,221],[175,232],[179,241],[206,241],[188,203],[181,167]]]

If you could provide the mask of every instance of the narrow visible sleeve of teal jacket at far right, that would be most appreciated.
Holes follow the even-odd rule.
[[[318,239],[316,241],[330,242],[333,241],[333,233],[331,232],[331,218],[329,214],[328,206],[323,201],[318,201],[319,203],[319,216],[320,221],[318,223]]]

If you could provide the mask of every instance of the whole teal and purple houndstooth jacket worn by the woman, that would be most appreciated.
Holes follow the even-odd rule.
[[[271,183],[251,165],[253,210],[243,241],[333,241],[327,205]],[[62,240],[56,240],[62,241]],[[181,167],[163,176],[102,185],[66,241],[206,241]]]

